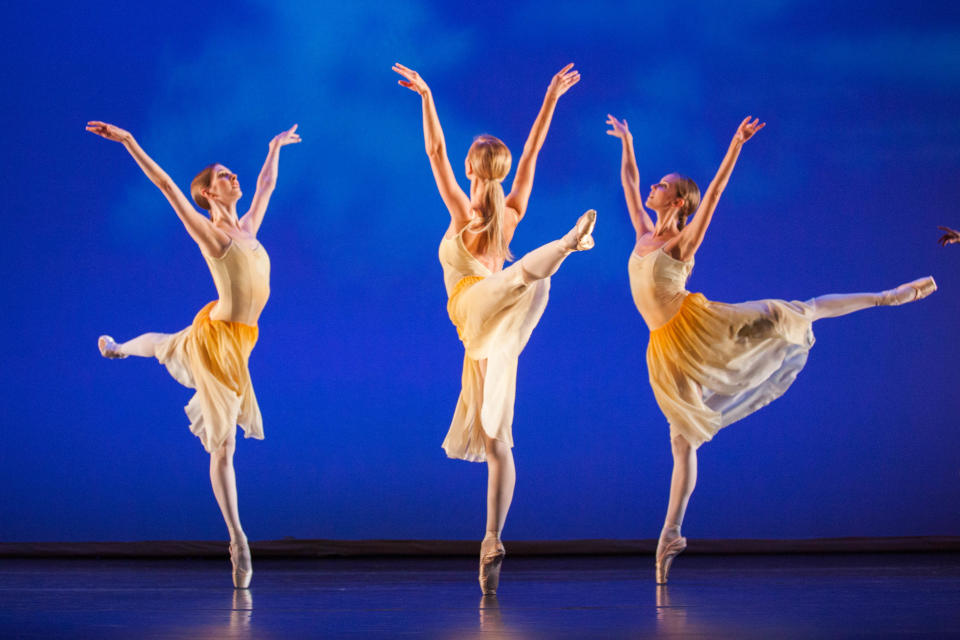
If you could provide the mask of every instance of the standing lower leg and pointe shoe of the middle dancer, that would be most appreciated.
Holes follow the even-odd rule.
[[[513,501],[517,472],[510,445],[486,435],[484,445],[487,450],[487,533],[480,543],[480,588],[484,595],[494,595],[506,554],[500,532]]]

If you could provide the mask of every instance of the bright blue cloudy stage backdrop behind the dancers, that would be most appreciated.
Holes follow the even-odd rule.
[[[486,468],[447,460],[462,349],[423,152],[436,96],[454,168],[472,137],[519,156],[550,76],[557,108],[517,254],[599,211],[520,360],[507,539],[649,538],[671,460],[633,307],[633,244],[608,112],[644,184],[701,186],[744,150],[690,287],[716,300],[941,291],[815,326],[785,397],[701,449],[685,532],[793,538],[960,533],[960,9],[949,3],[17,3],[0,26],[5,301],[0,540],[220,539],[191,391],[96,337],[175,331],[212,299],[197,247],[123,148],[128,128],[186,189],[211,162],[249,205],[284,148],[260,239],[273,294],[251,370],[267,439],[242,441],[253,539],[479,538]],[[456,6],[454,6],[456,5]],[[297,7],[297,8],[294,8]],[[462,183],[466,185],[465,179]]]

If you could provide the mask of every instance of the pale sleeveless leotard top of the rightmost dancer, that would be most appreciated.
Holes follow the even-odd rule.
[[[663,249],[651,251],[642,258],[631,252],[627,269],[637,310],[651,331],[659,329],[680,310],[690,293],[686,285],[693,260],[677,260]]]

